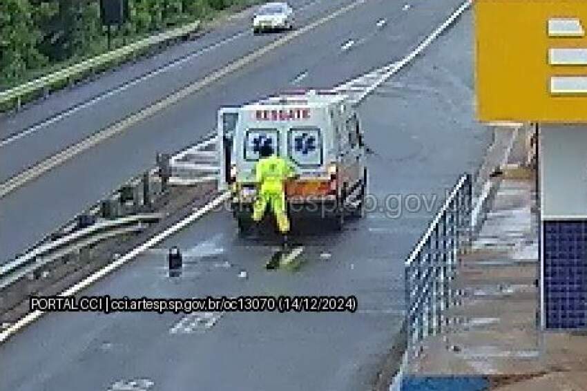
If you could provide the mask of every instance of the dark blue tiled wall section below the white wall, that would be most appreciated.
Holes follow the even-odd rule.
[[[543,222],[546,328],[587,328],[587,220]]]

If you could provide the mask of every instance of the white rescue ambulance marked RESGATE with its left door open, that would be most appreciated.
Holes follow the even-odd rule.
[[[219,187],[230,189],[241,232],[252,222],[254,166],[268,142],[291,160],[299,178],[286,184],[288,214],[315,216],[341,229],[347,216],[363,216],[367,187],[364,133],[346,95],[300,90],[218,112]],[[269,214],[269,213],[268,213]]]

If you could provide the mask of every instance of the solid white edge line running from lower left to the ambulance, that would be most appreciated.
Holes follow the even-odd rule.
[[[135,247],[135,249],[132,249],[130,252],[124,254],[124,256],[118,258],[113,263],[106,265],[106,267],[103,267],[102,269],[96,271],[94,274],[84,278],[84,280],[81,280],[79,283],[73,285],[73,287],[70,287],[69,289],[66,289],[64,292],[61,292],[58,296],[72,296],[77,292],[81,291],[81,289],[84,289],[92,285],[100,278],[110,274],[112,271],[115,271],[116,269],[119,269],[119,267],[121,267],[125,263],[128,263],[129,260],[133,260],[147,249],[153,247],[154,245],[157,245],[157,243],[171,236],[173,233],[180,231],[180,229],[183,229],[195,220],[198,220],[206,213],[209,213],[209,211],[211,211],[215,207],[218,207],[220,204],[222,204],[222,202],[228,200],[229,198],[229,192],[222,193],[220,196],[211,200],[208,204],[204,205],[204,207],[198,209],[197,211],[194,211],[194,213],[187,216],[180,222],[177,222],[175,225],[172,225],[165,231],[157,233],[157,235],[153,236],[153,238],[147,240],[142,245]],[[10,327],[8,327],[8,329],[0,333],[0,343],[6,341],[10,336],[19,332],[19,330],[23,329],[23,327],[26,327],[27,325],[30,325],[30,323],[36,321],[43,314],[45,314],[45,312],[42,311],[29,312],[28,314],[26,314],[26,316],[20,318],[19,321],[17,321],[14,325],[11,325]]]

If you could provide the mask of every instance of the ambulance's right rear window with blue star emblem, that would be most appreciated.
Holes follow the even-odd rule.
[[[290,128],[289,158],[300,167],[320,167],[323,164],[322,131],[314,126]]]

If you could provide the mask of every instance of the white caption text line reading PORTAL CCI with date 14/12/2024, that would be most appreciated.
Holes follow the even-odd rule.
[[[356,312],[356,296],[238,296],[205,298],[113,298],[106,296],[31,296],[31,311],[41,312]]]

